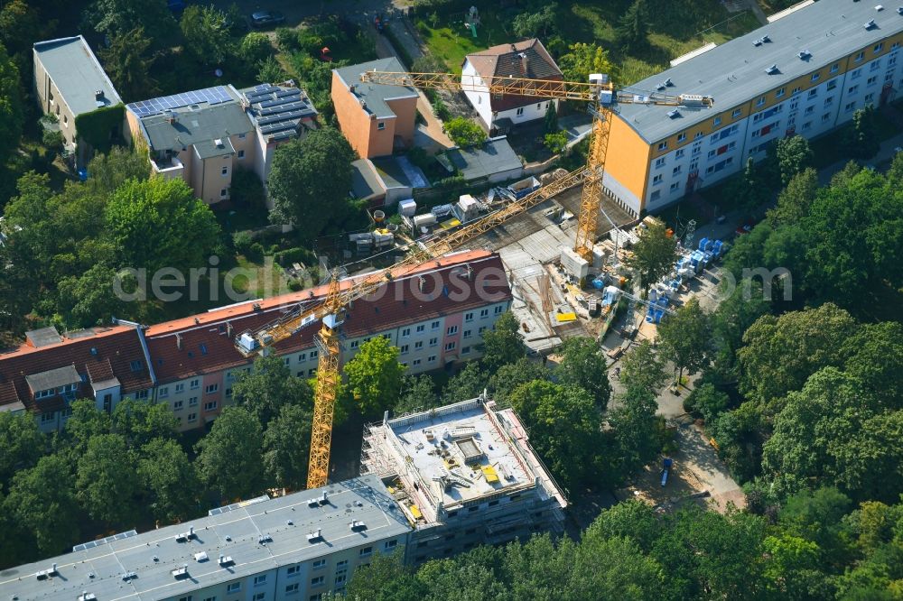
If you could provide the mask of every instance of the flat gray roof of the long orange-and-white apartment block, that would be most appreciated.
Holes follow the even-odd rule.
[[[671,79],[674,86],[662,93],[708,95],[715,101],[712,108],[682,107],[681,116],[675,119],[667,116],[670,106],[622,104],[616,110],[648,143],[682,132],[903,31],[903,15],[897,13],[897,4],[887,4],[881,11],[875,9],[876,5],[880,5],[878,0],[819,0],[629,87],[654,92],[659,83]],[[872,19],[873,27],[863,27]],[[770,42],[753,45],[765,34]],[[811,53],[807,60],[797,56],[803,50]],[[771,65],[779,72],[769,75],[766,69]]]

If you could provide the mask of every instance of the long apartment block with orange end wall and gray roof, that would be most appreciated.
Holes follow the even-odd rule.
[[[896,5],[819,0],[675,60],[631,89],[710,96],[713,105],[615,106],[605,189],[635,215],[655,212],[761,160],[779,138],[843,125],[903,87],[901,43]]]

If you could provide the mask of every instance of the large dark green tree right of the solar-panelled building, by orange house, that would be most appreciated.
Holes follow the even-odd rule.
[[[330,219],[349,210],[351,162],[357,158],[344,136],[331,127],[280,145],[268,180],[272,219],[292,223],[304,239],[320,236]]]

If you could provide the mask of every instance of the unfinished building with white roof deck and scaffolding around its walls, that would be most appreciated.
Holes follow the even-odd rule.
[[[361,474],[382,478],[414,527],[414,565],[479,544],[563,532],[567,501],[517,414],[485,397],[369,425]]]

